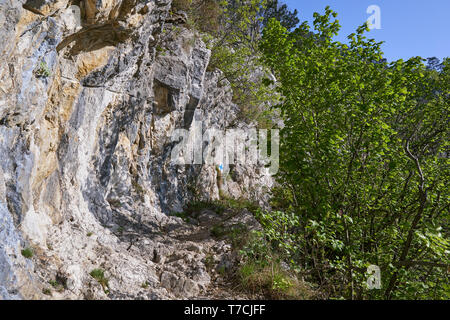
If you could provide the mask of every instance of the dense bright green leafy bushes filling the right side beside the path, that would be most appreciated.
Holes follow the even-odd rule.
[[[264,236],[329,297],[448,299],[450,60],[388,63],[367,25],[334,41],[336,16],[264,30],[285,123]]]

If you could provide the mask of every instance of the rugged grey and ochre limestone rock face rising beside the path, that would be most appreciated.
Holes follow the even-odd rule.
[[[0,0],[0,299],[208,296],[205,259],[228,249],[171,213],[272,180],[171,161],[177,129],[245,127],[180,17],[170,0]]]

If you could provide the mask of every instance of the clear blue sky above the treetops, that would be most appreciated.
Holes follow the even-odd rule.
[[[389,60],[450,57],[450,0],[281,0],[299,11],[300,21],[312,24],[314,12],[323,13],[327,5],[338,13],[341,32],[337,40],[366,21],[370,5],[381,9],[381,29],[373,29],[369,37],[385,41],[382,46]]]

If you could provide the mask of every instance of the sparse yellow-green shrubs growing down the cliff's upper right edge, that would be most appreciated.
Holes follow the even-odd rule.
[[[266,0],[234,0],[224,6],[223,28],[214,34],[210,69],[223,72],[233,99],[241,107],[240,119],[263,124],[267,107],[276,101],[273,89],[264,85],[266,70],[260,63],[258,42]],[[267,124],[265,124],[267,126]],[[269,124],[270,126],[270,124]]]

